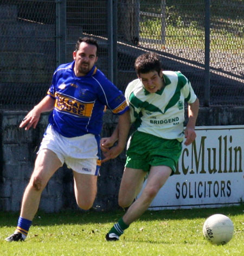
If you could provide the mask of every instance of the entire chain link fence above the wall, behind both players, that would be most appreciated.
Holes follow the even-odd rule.
[[[244,105],[242,0],[0,0],[0,108],[30,109],[79,36],[99,41],[97,66],[125,90],[153,51],[187,76],[204,105]]]

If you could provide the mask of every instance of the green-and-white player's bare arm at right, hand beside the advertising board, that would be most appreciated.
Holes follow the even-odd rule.
[[[195,133],[195,125],[196,125],[196,119],[198,115],[198,109],[199,109],[199,100],[198,98],[194,103],[190,103],[188,105],[188,123],[187,127],[185,128],[185,142],[184,144],[186,146],[190,145],[195,139],[196,139],[196,133]]]

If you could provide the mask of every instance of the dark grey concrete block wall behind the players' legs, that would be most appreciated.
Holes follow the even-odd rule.
[[[244,124],[244,107],[201,108],[197,126],[225,126]],[[28,184],[48,114],[43,114],[36,129],[19,129],[24,111],[0,112],[0,210],[19,211],[21,199]],[[109,136],[117,117],[107,111],[102,136]],[[107,211],[118,208],[118,190],[125,163],[125,151],[117,159],[102,164],[98,179],[98,194],[93,208]],[[61,167],[49,180],[42,193],[40,209],[48,213],[62,209],[78,209],[73,191],[73,174],[67,166]]]

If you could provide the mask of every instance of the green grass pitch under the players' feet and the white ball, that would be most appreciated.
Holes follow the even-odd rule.
[[[237,207],[146,211],[119,241],[107,242],[105,234],[123,215],[95,211],[38,212],[24,242],[6,242],[14,232],[18,214],[0,213],[1,256],[244,255],[244,204]],[[211,245],[203,238],[206,218],[221,213],[231,218],[235,232],[227,245]]]

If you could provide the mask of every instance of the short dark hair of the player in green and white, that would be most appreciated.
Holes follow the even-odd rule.
[[[140,73],[145,74],[150,71],[157,71],[158,74],[160,74],[162,64],[156,53],[144,53],[137,57],[134,63],[134,68],[136,69],[138,76],[140,76]]]

